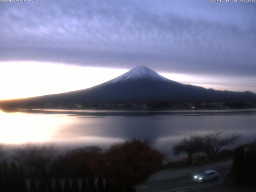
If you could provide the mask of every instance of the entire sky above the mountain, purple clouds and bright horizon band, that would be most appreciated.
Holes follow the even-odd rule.
[[[88,88],[136,66],[256,92],[255,12],[232,0],[0,2],[0,100]]]

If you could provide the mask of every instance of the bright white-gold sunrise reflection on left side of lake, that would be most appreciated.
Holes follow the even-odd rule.
[[[57,128],[69,121],[70,118],[55,118],[53,115],[4,113],[0,110],[0,141],[5,144],[50,141]]]

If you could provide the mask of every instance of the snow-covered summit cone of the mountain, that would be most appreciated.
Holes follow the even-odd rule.
[[[110,80],[109,82],[115,83],[119,81],[137,80],[137,79],[151,79],[151,80],[164,80],[164,81],[168,80],[165,77],[160,76],[150,68],[147,68],[145,66],[138,66],[126,72],[125,74]]]

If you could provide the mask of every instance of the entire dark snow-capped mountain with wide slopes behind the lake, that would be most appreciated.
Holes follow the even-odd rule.
[[[100,85],[61,94],[0,102],[11,108],[58,108],[99,103],[256,102],[252,92],[231,92],[181,84],[138,66]]]

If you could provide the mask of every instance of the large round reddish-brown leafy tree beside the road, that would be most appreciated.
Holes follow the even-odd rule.
[[[117,143],[106,152],[105,177],[114,186],[130,188],[148,180],[160,170],[163,154],[148,142],[133,139]]]

